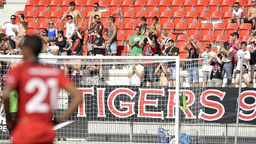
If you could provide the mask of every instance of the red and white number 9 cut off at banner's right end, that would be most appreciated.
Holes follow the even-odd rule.
[[[254,98],[253,104],[247,104],[245,102],[245,99],[248,97]],[[241,93],[240,108],[242,109],[239,112],[240,120],[250,121],[250,120],[254,120],[256,118],[256,92],[254,90],[246,90]],[[253,110],[253,112],[251,114],[244,114],[243,110],[246,110],[246,111]]]

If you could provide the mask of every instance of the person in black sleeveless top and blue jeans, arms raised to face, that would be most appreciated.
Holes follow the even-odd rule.
[[[189,47],[189,44],[191,45],[191,48]],[[187,61],[186,66],[188,69],[188,83],[189,86],[193,86],[193,79],[195,80],[196,87],[199,86],[198,82],[198,57],[199,57],[199,51],[200,49],[196,45],[196,41],[192,40],[192,38],[188,38],[188,42],[183,46],[184,50],[188,51],[188,58],[189,59],[194,59],[196,60],[190,60]]]

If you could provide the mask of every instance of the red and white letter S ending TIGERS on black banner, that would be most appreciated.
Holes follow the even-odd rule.
[[[207,114],[207,113],[203,112],[202,110],[200,110],[200,112],[198,114],[198,118],[208,120],[208,121],[214,121],[214,120],[218,120],[218,119],[222,118],[222,116],[225,113],[224,106],[219,102],[215,102],[213,100],[208,100],[207,98],[209,96],[217,96],[218,98],[220,98],[220,100],[223,100],[225,94],[226,94],[226,92],[222,92],[220,90],[204,91],[200,96],[200,103],[207,108],[216,109],[217,112],[214,114]]]

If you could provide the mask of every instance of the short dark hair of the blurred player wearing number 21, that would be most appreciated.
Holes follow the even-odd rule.
[[[38,56],[42,50],[42,40],[37,36],[28,36],[24,43],[23,48],[30,48],[35,56]]]

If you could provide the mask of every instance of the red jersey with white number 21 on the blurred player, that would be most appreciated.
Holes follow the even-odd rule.
[[[54,68],[25,61],[10,71],[6,84],[18,90],[18,122],[13,129],[13,144],[52,142],[51,116],[60,87],[68,80]]]

